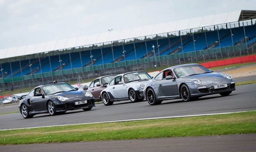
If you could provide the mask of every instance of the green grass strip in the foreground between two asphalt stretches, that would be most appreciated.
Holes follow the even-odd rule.
[[[256,133],[256,111],[0,131],[0,145]]]

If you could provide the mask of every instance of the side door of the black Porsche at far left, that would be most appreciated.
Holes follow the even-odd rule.
[[[33,94],[31,94],[30,96],[31,106],[36,111],[47,110],[46,102],[48,99],[42,96],[42,94],[40,93],[40,90],[41,90],[40,87],[34,89]]]

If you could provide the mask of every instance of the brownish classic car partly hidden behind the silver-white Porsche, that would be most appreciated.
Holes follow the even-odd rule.
[[[94,79],[89,87],[84,87],[84,90],[89,91],[94,96],[95,101],[101,101],[99,98],[100,92],[107,86],[107,84],[112,80],[117,74],[111,74],[107,76],[101,76]]]

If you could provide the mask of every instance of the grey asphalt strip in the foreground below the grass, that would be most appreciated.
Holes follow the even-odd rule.
[[[0,146],[1,152],[255,152],[256,134]],[[243,145],[243,146],[241,146]]]

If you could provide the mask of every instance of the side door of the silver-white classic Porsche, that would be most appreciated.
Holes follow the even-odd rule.
[[[118,76],[115,78],[115,84],[111,86],[111,93],[114,98],[128,97],[127,87],[123,82],[122,76]]]

